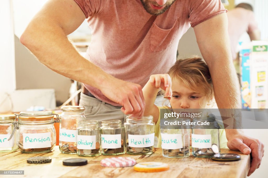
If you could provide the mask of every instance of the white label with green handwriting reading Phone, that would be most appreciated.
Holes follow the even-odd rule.
[[[101,134],[102,148],[121,148],[121,134]]]

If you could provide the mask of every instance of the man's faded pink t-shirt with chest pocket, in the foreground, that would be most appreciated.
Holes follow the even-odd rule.
[[[227,10],[220,0],[177,0],[152,16],[140,0],[75,0],[91,28],[86,58],[110,75],[142,87],[150,75],[166,73],[176,61],[178,42],[190,28]],[[100,90],[96,98],[114,106]]]

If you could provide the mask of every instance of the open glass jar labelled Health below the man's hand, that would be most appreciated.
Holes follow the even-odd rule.
[[[124,127],[126,153],[152,154],[155,123],[151,115],[142,117],[126,116]]]

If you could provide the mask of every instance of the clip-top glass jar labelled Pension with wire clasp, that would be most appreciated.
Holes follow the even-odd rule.
[[[15,114],[17,115],[17,114]],[[54,115],[57,119],[54,120]],[[59,116],[51,111],[25,111],[17,115],[14,122],[17,130],[16,142],[22,153],[46,153],[56,145],[54,122],[59,122]]]

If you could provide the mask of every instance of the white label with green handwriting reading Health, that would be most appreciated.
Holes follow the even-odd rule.
[[[128,134],[128,146],[143,148],[154,145],[154,133],[148,135],[130,135]]]

